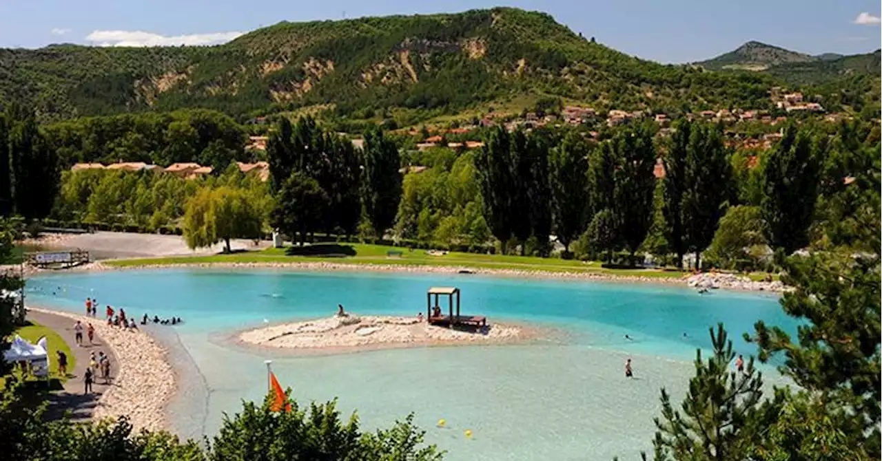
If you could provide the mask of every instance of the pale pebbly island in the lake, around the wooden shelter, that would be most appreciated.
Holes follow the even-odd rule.
[[[526,326],[489,323],[486,331],[434,326],[414,316],[333,316],[282,323],[243,331],[235,341],[274,349],[348,350],[407,346],[492,345],[525,342],[542,337]]]

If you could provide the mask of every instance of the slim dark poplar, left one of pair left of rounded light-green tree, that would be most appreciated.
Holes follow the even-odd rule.
[[[683,196],[689,185],[686,182],[686,158],[694,125],[678,121],[671,134],[668,153],[664,162],[664,219],[668,225],[667,237],[671,249],[676,252],[676,266],[683,268],[683,256],[688,245],[683,224]]]

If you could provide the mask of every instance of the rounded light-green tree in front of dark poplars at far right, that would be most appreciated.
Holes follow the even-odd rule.
[[[729,208],[720,219],[707,258],[727,269],[747,269],[751,249],[766,248],[766,229],[758,206],[738,205]]]

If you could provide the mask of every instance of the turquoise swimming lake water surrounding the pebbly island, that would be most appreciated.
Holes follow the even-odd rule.
[[[527,346],[428,347],[292,357],[229,346],[235,331],[292,318],[415,315],[429,286],[459,286],[464,314],[561,332]],[[181,316],[155,330],[172,346],[182,392],[169,405],[183,435],[213,434],[241,399],[262,398],[266,358],[308,400],[340,398],[365,428],[415,412],[448,459],[609,459],[650,449],[659,389],[682,396],[708,327],[726,324],[736,350],[758,319],[795,329],[777,298],[674,286],[476,276],[293,271],[118,271],[33,279],[28,302],[80,312],[86,296],[130,316]],[[101,310],[101,309],[100,309]],[[687,335],[684,338],[684,333]],[[627,340],[627,334],[632,340]],[[625,380],[632,357],[639,379]],[[767,380],[768,381],[768,380]],[[776,382],[776,378],[771,381]],[[436,428],[439,418],[447,428]],[[463,430],[473,430],[467,440]]]

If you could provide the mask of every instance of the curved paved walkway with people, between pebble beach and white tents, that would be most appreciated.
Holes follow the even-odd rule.
[[[67,382],[64,383],[64,389],[56,390],[50,394],[49,418],[58,419],[64,415],[65,411],[70,410],[71,420],[88,420],[92,417],[92,413],[95,406],[98,405],[98,399],[101,398],[101,394],[109,388],[108,385],[104,384],[104,380],[101,379],[101,377],[97,377],[93,383],[93,392],[84,394],[83,391],[86,386],[85,383],[83,383],[83,375],[86,374],[86,367],[89,366],[90,353],[94,352],[97,356],[99,352],[103,352],[110,357],[110,376],[113,378],[119,372],[119,361],[116,361],[116,355],[114,355],[113,350],[108,346],[105,346],[101,341],[101,338],[98,338],[97,335],[94,338],[94,343],[89,345],[89,338],[86,335],[85,329],[83,331],[84,346],[78,347],[77,342],[74,340],[74,321],[68,317],[29,310],[27,312],[27,319],[33,320],[36,323],[41,323],[42,325],[56,331],[59,336],[64,338],[64,341],[67,342],[68,346],[71,346],[71,352],[77,361],[76,368],[67,370],[68,379]],[[101,322],[101,319],[95,319],[95,321]],[[56,361],[58,359],[57,357],[49,357],[49,360]],[[112,379],[110,382],[110,385],[113,385]]]

